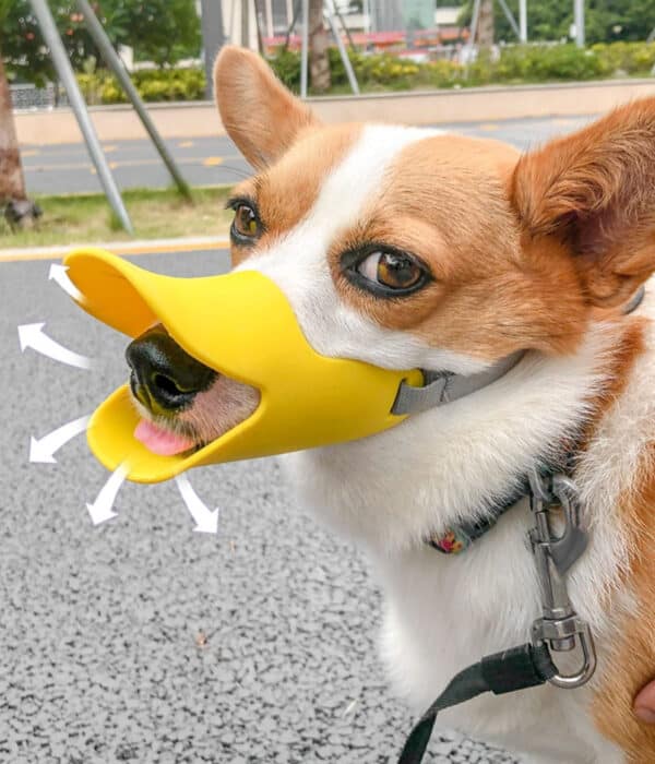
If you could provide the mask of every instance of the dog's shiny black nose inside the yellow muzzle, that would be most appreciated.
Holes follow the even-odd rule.
[[[130,343],[126,358],[132,369],[132,393],[153,414],[180,411],[216,378],[215,371],[182,350],[162,324]]]

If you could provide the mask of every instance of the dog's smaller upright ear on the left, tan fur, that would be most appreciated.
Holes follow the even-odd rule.
[[[312,112],[275,77],[257,53],[226,46],[214,65],[221,119],[246,159],[263,169],[318,124]]]

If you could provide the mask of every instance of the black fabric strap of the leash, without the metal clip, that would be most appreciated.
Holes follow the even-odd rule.
[[[488,655],[460,671],[420,717],[409,733],[398,764],[420,764],[428,748],[437,714],[471,701],[484,692],[501,695],[544,684],[557,673],[546,644],[531,644]]]

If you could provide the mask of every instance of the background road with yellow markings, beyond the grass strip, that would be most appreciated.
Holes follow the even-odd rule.
[[[552,135],[574,130],[588,119],[521,119],[438,127],[528,148]],[[234,143],[225,136],[180,139],[169,141],[168,146],[191,186],[235,183],[251,171]],[[166,168],[148,141],[119,141],[104,147],[119,188],[166,188],[171,184]],[[83,143],[25,145],[22,155],[29,193],[100,191],[99,180]]]

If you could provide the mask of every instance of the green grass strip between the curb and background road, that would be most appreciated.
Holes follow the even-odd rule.
[[[188,202],[176,190],[136,189],[122,196],[138,239],[182,236],[227,236],[233,213],[225,210],[228,187],[192,190]],[[38,225],[12,232],[0,218],[0,248],[126,241],[122,229],[103,194],[34,196],[44,211]]]

